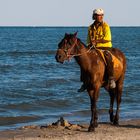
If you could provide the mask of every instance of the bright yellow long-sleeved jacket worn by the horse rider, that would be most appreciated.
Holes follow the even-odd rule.
[[[111,43],[111,31],[110,27],[106,22],[101,23],[98,28],[95,27],[94,23],[88,27],[87,45],[92,44],[91,40],[108,40],[107,43],[97,43],[96,47],[112,47]]]

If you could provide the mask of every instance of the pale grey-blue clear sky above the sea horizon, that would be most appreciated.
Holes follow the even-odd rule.
[[[140,26],[140,0],[0,0],[0,26],[89,26],[95,8],[110,26]]]

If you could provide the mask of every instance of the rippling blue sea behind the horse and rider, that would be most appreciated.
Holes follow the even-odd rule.
[[[90,122],[90,100],[74,59],[57,63],[65,33],[78,31],[86,44],[87,27],[0,27],[0,130],[47,125],[60,117]],[[113,47],[127,59],[120,120],[140,119],[140,27],[111,27]],[[100,90],[99,122],[109,122],[109,95]],[[116,106],[115,106],[116,108]]]

